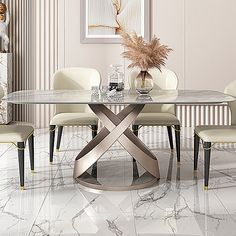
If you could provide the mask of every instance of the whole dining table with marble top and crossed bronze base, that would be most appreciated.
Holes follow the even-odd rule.
[[[73,177],[83,186],[99,190],[134,190],[150,187],[160,179],[157,156],[130,129],[145,105],[151,104],[221,104],[234,101],[230,95],[212,90],[152,90],[149,94],[139,94],[134,90],[96,94],[90,90],[23,90],[8,94],[5,101],[12,104],[87,104],[102,123],[97,136],[88,142],[74,161]],[[123,106],[116,114],[110,107]],[[118,141],[134,158],[132,168],[126,175],[132,181],[104,183],[90,173],[91,168]],[[137,171],[137,164],[144,170]],[[109,165],[103,166],[105,173]],[[113,169],[107,179],[115,178],[118,168]],[[103,179],[103,180],[102,180]]]

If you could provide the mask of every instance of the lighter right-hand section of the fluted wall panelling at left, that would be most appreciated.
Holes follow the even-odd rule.
[[[35,86],[37,90],[52,88],[52,75],[58,68],[58,0],[35,2]],[[47,127],[53,106],[36,105],[37,127]]]

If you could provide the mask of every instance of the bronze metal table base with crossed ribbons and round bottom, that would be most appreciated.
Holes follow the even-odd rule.
[[[86,187],[99,190],[122,191],[152,186],[160,178],[158,161],[148,147],[129,129],[142,111],[144,104],[128,105],[117,115],[102,104],[90,104],[89,106],[102,121],[104,127],[76,157],[74,178]],[[96,177],[93,178],[92,175],[89,177],[87,172],[116,141],[147,171],[144,175],[134,178],[130,186],[102,185]],[[113,175],[115,174],[113,173]],[[149,177],[144,178],[147,175]]]

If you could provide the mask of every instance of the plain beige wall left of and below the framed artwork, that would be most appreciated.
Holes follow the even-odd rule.
[[[123,48],[118,44],[80,44],[80,1],[66,1],[65,66],[94,67],[106,81],[110,64],[122,64]],[[104,82],[105,83],[105,82]]]

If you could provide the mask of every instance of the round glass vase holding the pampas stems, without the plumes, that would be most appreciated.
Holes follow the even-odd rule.
[[[148,71],[140,71],[134,81],[134,86],[140,94],[148,94],[154,86],[153,78]]]

